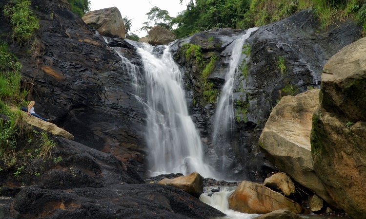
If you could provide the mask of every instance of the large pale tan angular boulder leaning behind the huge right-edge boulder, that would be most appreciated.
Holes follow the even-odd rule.
[[[319,105],[319,91],[283,97],[269,115],[259,146],[281,171],[336,206],[313,171],[310,131],[312,115]]]

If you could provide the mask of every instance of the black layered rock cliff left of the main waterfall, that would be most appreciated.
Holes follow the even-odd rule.
[[[10,47],[20,57],[24,86],[32,88],[29,99],[76,142],[133,163],[142,174],[144,110],[133,96],[131,76],[104,39],[66,6],[56,0],[34,1],[41,25],[36,52],[30,55],[30,46]],[[8,22],[0,19],[0,33],[11,33]],[[124,43],[121,52],[139,65],[131,48]]]

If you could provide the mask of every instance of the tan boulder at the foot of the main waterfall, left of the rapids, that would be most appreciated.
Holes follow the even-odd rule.
[[[196,198],[199,198],[203,193],[203,177],[197,172],[174,179],[165,178],[159,184],[182,189]]]

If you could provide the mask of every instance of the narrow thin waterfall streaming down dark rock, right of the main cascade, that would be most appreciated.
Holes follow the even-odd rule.
[[[233,87],[235,72],[238,70],[238,64],[242,55],[242,47],[245,40],[258,28],[250,28],[239,39],[233,43],[233,50],[230,56],[229,68],[225,75],[225,84],[222,90],[219,103],[215,111],[214,128],[212,132],[212,143],[214,145],[227,144],[230,141],[230,135],[234,130],[234,107],[233,107]],[[224,153],[224,152],[223,152]],[[223,154],[223,164],[225,156]],[[224,168],[224,166],[223,166]]]

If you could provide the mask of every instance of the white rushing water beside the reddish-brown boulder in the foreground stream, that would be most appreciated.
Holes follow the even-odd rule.
[[[235,188],[236,187],[221,187],[220,192],[212,193],[211,196],[208,196],[210,193],[203,193],[200,196],[200,200],[226,214],[225,217],[218,217],[215,219],[252,219],[260,216],[257,214],[245,214],[229,209],[229,202],[227,199],[234,192]]]

